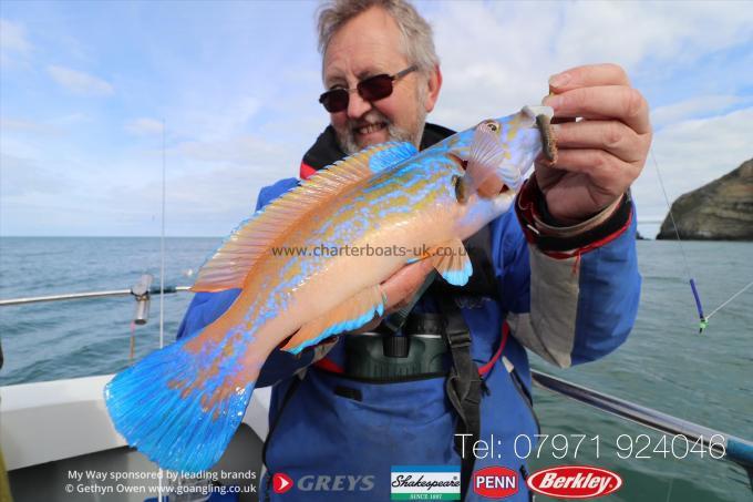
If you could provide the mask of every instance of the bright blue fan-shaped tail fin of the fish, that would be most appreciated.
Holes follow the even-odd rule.
[[[213,329],[149,354],[105,386],[115,429],[162,468],[198,472],[215,464],[254,391],[261,365],[246,357],[251,335]]]

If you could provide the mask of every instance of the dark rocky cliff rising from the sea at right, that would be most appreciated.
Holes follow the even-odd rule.
[[[680,238],[753,240],[753,158],[672,204]],[[675,238],[669,215],[658,239]]]

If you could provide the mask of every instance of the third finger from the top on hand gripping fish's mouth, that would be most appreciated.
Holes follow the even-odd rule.
[[[618,121],[580,121],[555,125],[559,151],[604,150],[628,163],[642,162],[650,137]]]

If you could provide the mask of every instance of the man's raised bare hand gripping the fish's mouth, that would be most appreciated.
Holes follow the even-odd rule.
[[[577,66],[549,80],[558,158],[536,162],[536,181],[557,221],[577,224],[617,201],[651,144],[649,107],[615,64]],[[581,117],[575,122],[576,117]],[[565,122],[561,122],[565,120]]]

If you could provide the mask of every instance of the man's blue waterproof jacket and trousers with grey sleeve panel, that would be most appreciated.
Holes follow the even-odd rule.
[[[297,183],[289,178],[262,188],[257,209]],[[472,334],[472,356],[479,367],[493,358],[505,320],[512,329],[503,358],[485,377],[488,393],[481,403],[481,439],[493,447],[493,454],[479,454],[475,462],[476,470],[502,465],[519,473],[519,489],[510,501],[528,500],[526,459],[515,453],[516,438],[518,453],[524,453],[528,441],[535,448],[538,432],[526,348],[560,367],[598,359],[625,341],[640,291],[636,218],[629,201],[622,202],[627,207],[622,221],[607,217],[611,226],[602,224],[600,233],[567,242],[547,237],[538,199],[535,183],[528,183],[516,212],[489,224],[498,294],[461,303]],[[537,226],[540,232],[529,229]],[[197,294],[178,337],[218,318],[238,291]],[[443,377],[365,383],[311,366],[313,357],[311,350],[299,359],[275,350],[256,385],[274,386],[269,416],[270,423],[277,423],[267,448],[267,467],[293,480],[286,494],[268,490],[270,500],[390,500],[392,465],[460,465],[453,449],[456,417]],[[343,366],[341,339],[327,360]],[[298,379],[293,373],[305,367],[305,378],[280,414],[286,392]],[[261,493],[268,483],[265,479]],[[466,500],[487,499],[472,486]]]

